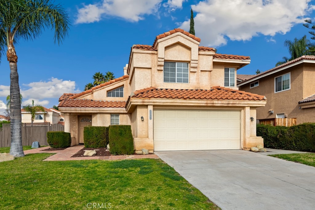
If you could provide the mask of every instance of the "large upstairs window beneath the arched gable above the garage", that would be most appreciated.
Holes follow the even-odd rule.
[[[188,83],[188,63],[164,62],[164,82]]]

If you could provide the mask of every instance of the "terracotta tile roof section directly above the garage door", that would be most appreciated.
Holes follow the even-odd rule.
[[[266,100],[265,96],[233,90],[220,86],[210,90],[158,89],[155,87],[137,90],[131,98],[156,99],[204,99],[204,100]]]

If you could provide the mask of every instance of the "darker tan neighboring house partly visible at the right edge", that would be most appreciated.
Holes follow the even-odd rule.
[[[243,91],[265,95],[267,104],[257,108],[257,119],[296,118],[315,122],[315,56],[304,55],[257,75],[238,77]]]

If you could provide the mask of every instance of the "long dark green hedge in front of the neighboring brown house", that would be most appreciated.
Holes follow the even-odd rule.
[[[257,125],[256,135],[264,139],[266,148],[315,151],[315,123],[291,127]]]

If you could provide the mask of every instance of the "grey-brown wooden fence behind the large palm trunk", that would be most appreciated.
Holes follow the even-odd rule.
[[[34,141],[38,141],[40,145],[48,145],[48,131],[64,131],[65,127],[60,124],[43,123],[22,123],[22,145],[31,146]],[[0,128],[0,147],[9,147],[11,144],[11,124],[3,123]]]

